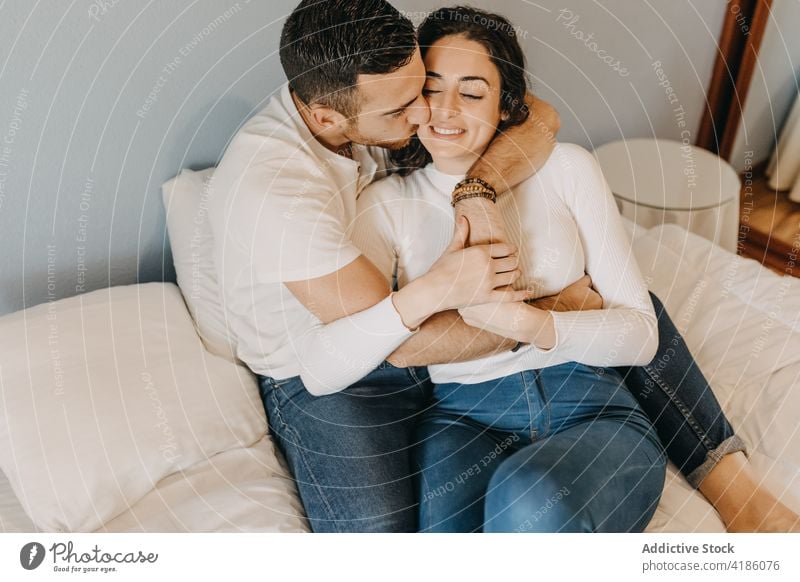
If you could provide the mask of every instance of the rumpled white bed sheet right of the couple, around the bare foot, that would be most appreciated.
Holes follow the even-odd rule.
[[[633,249],[764,485],[800,511],[800,279],[674,225],[637,236]],[[670,467],[648,531],[725,530]]]

